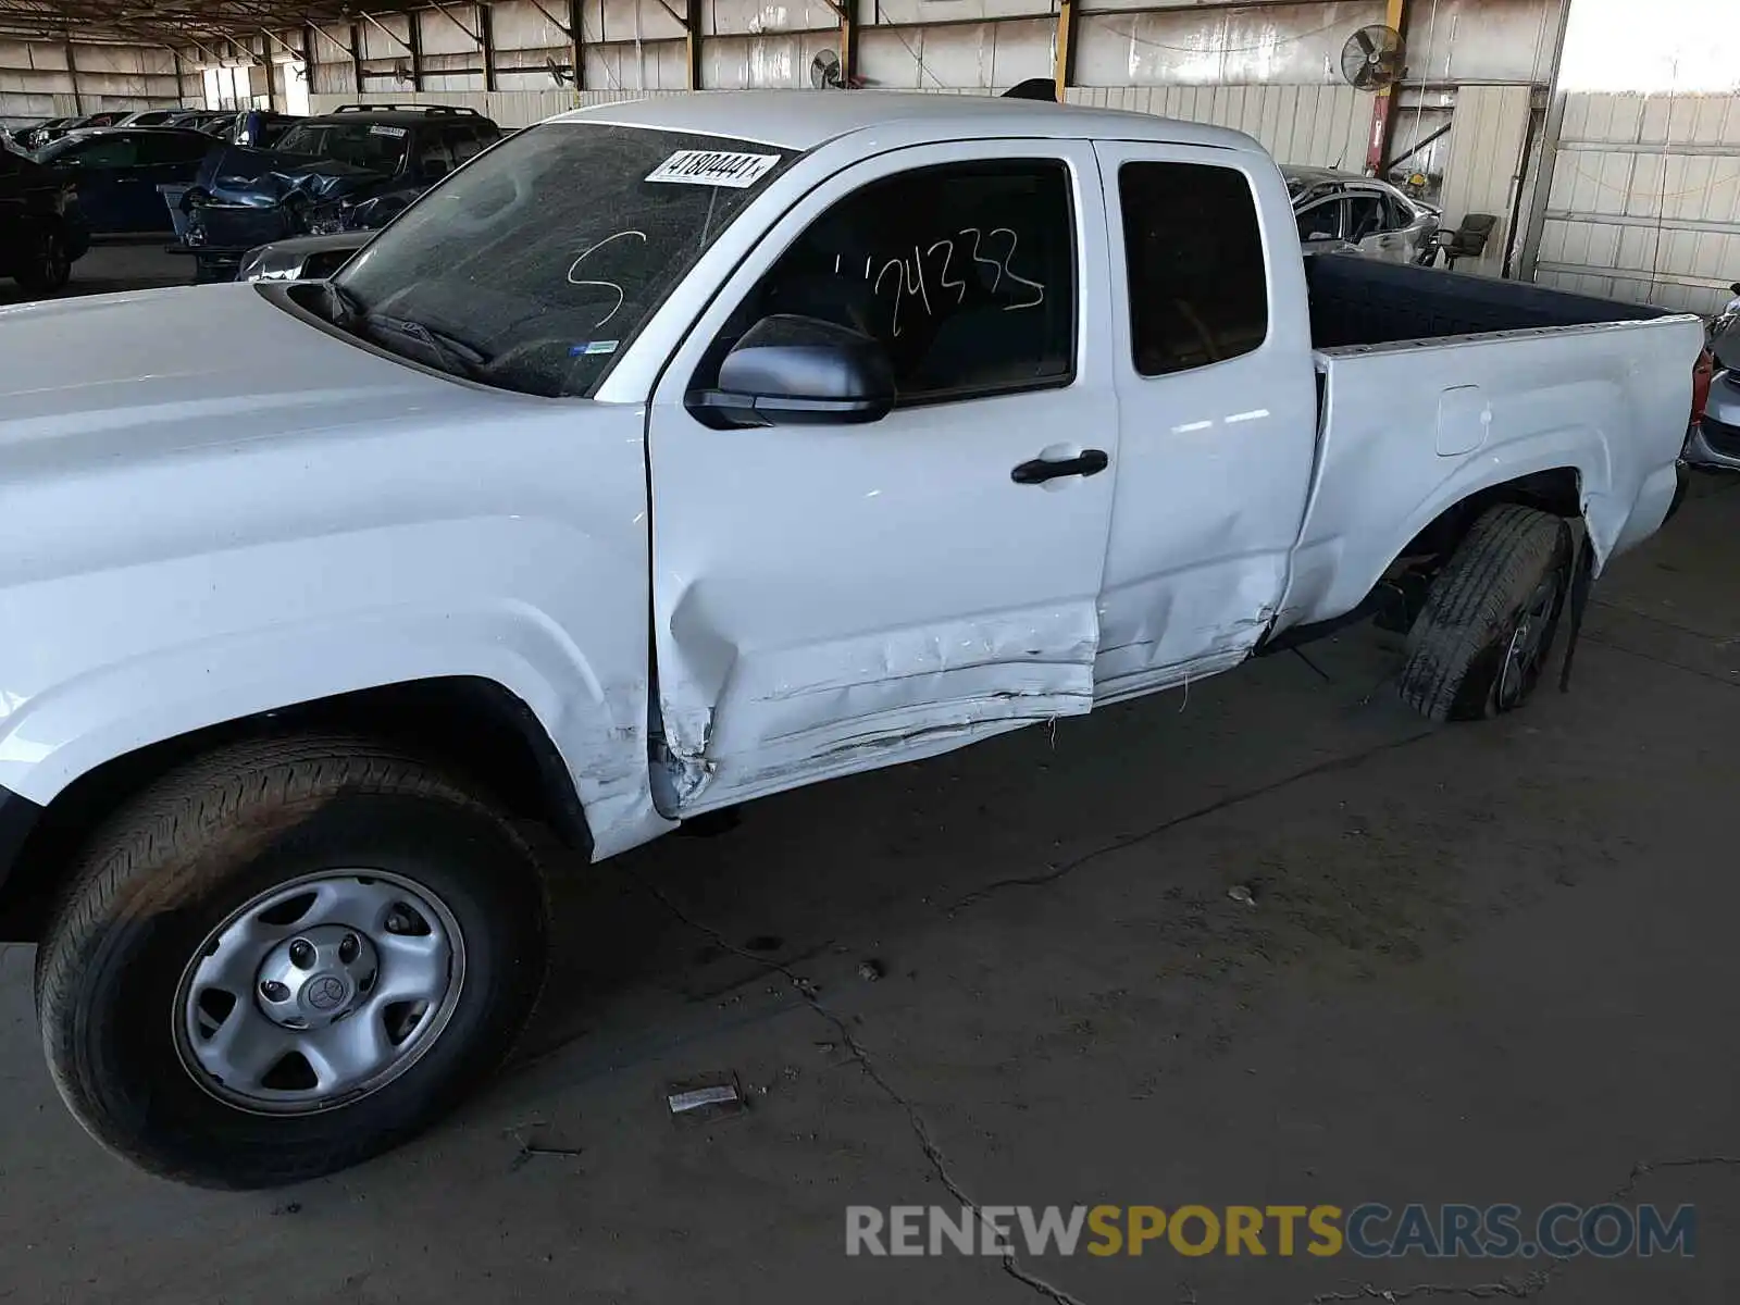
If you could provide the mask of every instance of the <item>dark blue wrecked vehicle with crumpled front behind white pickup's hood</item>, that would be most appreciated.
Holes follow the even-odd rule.
[[[231,280],[259,245],[298,235],[372,231],[501,129],[470,108],[345,104],[304,118],[271,150],[212,153],[179,198],[181,245],[202,282]]]

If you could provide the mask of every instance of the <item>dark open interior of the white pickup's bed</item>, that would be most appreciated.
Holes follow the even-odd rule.
[[[1350,350],[1535,327],[1644,322],[1665,308],[1592,299],[1517,280],[1469,277],[1345,254],[1305,259],[1317,350]]]

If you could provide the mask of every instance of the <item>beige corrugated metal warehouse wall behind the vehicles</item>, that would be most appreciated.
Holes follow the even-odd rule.
[[[1717,19],[1737,0],[1707,2],[1721,30]],[[858,19],[856,68],[872,89],[999,92],[1053,75],[1056,0],[849,3]],[[1561,96],[1563,130],[1554,134],[1550,124],[1535,130],[1545,117],[1542,89],[1561,54],[1566,3],[1411,0],[1411,85],[1399,97],[1394,148],[1453,124],[1413,165],[1434,183],[1442,174],[1439,198],[1451,223],[1467,212],[1502,218],[1476,270],[1503,270],[1505,251],[1521,238],[1509,228],[1517,226],[1540,235],[1542,280],[1709,308],[1740,277],[1740,96]],[[687,7],[687,0],[576,0],[571,10],[566,0],[499,0],[487,5],[489,68],[485,7],[475,0],[254,37],[228,63],[270,63],[280,110],[320,111],[357,99],[461,103],[522,127],[574,104],[686,89],[691,49],[677,14]],[[578,31],[564,28],[571,12]],[[706,89],[806,87],[816,56],[840,49],[840,17],[828,0],[701,0],[696,12],[698,78]],[[1093,0],[1077,26],[1068,97],[1225,124],[1282,162],[1359,169],[1373,97],[1343,84],[1340,52],[1355,28],[1383,16],[1385,0],[1161,7]],[[1625,30],[1603,31],[1585,35],[1582,47],[1625,40]],[[304,49],[313,54],[306,64]],[[90,47],[89,57],[84,45],[75,50],[78,108],[176,97],[169,50]],[[186,103],[198,103],[207,63],[200,50],[181,50]],[[1681,64],[1670,64],[1677,75]],[[0,44],[0,118],[73,111],[71,90],[64,47]],[[1554,110],[1550,122],[1557,117]],[[1545,158],[1536,160],[1543,139]],[[1549,171],[1550,198],[1536,181]],[[1522,251],[1522,266],[1535,252]]]

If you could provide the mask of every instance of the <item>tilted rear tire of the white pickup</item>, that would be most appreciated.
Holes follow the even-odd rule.
[[[1402,701],[1432,720],[1516,710],[1540,682],[1571,583],[1571,529],[1516,503],[1488,508],[1408,633]]]

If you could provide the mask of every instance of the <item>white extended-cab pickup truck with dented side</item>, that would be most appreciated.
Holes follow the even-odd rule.
[[[1418,710],[1519,705],[1702,327],[1308,263],[1235,132],[710,94],[331,282],[0,311],[0,905],[71,1110],[219,1187],[430,1124],[539,988],[525,821],[606,858],[1378,609]]]

